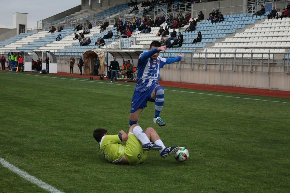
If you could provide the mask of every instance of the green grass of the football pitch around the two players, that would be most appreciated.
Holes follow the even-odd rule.
[[[289,192],[290,104],[165,90],[166,126],[153,124],[150,102],[139,124],[154,127],[165,145],[188,148],[189,159],[151,151],[144,164],[113,165],[93,130],[128,131],[133,84],[48,77],[0,73],[0,157],[61,191]],[[0,165],[0,192],[41,191]]]

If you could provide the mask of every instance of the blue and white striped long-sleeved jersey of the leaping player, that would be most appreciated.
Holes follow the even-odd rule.
[[[138,73],[135,91],[144,92],[158,85],[160,68],[165,64],[171,64],[181,60],[180,56],[176,58],[162,58],[158,56],[155,61],[152,61],[151,56],[157,52],[157,49],[158,48],[155,48],[140,54],[137,66]]]

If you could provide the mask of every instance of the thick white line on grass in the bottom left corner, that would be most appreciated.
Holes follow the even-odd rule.
[[[34,176],[31,176],[30,174],[28,174],[27,172],[24,172],[23,170],[20,170],[18,167],[10,164],[8,161],[6,161],[5,159],[0,158],[0,163],[3,165],[3,167],[8,168],[9,170],[11,170],[12,172],[18,174],[19,176],[21,176],[22,178],[30,181],[31,183],[34,183],[36,185],[38,185],[39,187],[43,188],[44,190],[47,190],[48,192],[53,192],[53,193],[63,193],[60,190],[57,190],[55,187],[37,179]]]

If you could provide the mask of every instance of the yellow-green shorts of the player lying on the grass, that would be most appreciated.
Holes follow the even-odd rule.
[[[134,134],[128,134],[126,142],[125,156],[129,164],[139,164],[147,159],[148,151],[143,151],[142,143]]]

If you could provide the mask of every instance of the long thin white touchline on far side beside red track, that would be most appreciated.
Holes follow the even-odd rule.
[[[15,74],[15,73],[7,73],[7,74]],[[39,76],[35,74],[21,74],[21,75],[29,75],[29,76],[38,76],[38,77],[45,77],[45,78],[55,78],[55,79],[65,79],[65,80],[74,80],[74,81],[85,81],[85,82],[91,82],[91,83],[102,83],[102,84],[111,84],[111,85],[120,85],[120,86],[131,86],[132,85],[125,85],[125,84],[116,84],[116,83],[107,83],[103,81],[87,81],[87,80],[81,80],[81,79],[67,79],[67,78],[60,78],[60,77],[48,77],[48,76]],[[189,91],[182,91],[182,90],[170,90],[170,89],[164,89],[168,91],[174,91],[174,92],[186,92],[186,93],[193,93],[193,94],[204,94],[209,96],[216,96],[216,97],[229,97],[229,98],[235,98],[235,99],[247,99],[247,100],[254,100],[254,101],[265,101],[265,102],[274,102],[274,103],[286,103],[290,104],[290,102],[282,102],[282,101],[270,101],[270,100],[263,100],[263,99],[251,99],[251,98],[245,98],[245,97],[233,97],[233,96],[226,96],[226,95],[219,95],[219,94],[207,94],[207,93],[201,93],[201,92],[189,92]],[[212,91],[214,92],[214,91]]]

